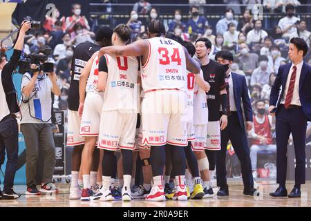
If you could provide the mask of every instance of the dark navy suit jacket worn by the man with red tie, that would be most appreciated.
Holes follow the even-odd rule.
[[[279,106],[281,99],[284,95],[286,81],[288,79],[288,74],[290,73],[290,67],[292,63],[280,66],[279,72],[276,75],[276,79],[271,88],[270,93],[270,106],[276,106],[277,111],[279,111]],[[282,86],[281,94],[280,89]],[[311,120],[311,67],[303,62],[301,68],[301,75],[299,79],[299,99],[303,109],[303,113]]]

